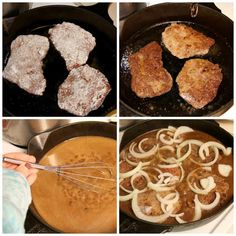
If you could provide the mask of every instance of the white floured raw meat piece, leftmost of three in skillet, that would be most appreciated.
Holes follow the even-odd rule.
[[[11,43],[11,55],[3,77],[28,93],[43,95],[46,80],[43,75],[43,58],[49,49],[44,36],[20,35]]]

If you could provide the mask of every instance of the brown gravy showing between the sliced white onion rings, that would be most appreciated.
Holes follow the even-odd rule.
[[[129,146],[131,145],[132,142],[139,143],[142,139],[149,138],[149,141],[146,142],[146,150],[149,150],[151,147],[153,147],[153,144],[155,143],[155,140],[156,140],[157,131],[158,130],[145,133],[145,134],[135,138],[130,143],[128,143],[120,153],[120,160],[124,160],[124,156],[129,152]],[[216,138],[214,138],[206,133],[200,132],[200,131],[194,131],[194,132],[183,134],[183,140],[187,140],[187,139],[198,139],[203,142],[208,142],[208,141],[219,142]],[[221,142],[219,142],[219,143],[221,143]],[[146,160],[150,160],[152,158],[153,158],[153,156],[151,156],[150,158],[147,158]],[[193,158],[193,159],[197,158],[197,156],[195,156],[194,152],[193,152],[193,154],[191,154],[191,158]],[[133,158],[132,160],[134,161],[135,158]],[[209,160],[209,161],[211,161],[211,160]],[[163,164],[163,163],[160,160],[158,160],[157,158],[154,158],[154,161],[152,161],[150,165],[153,167],[157,167],[158,164]],[[209,211],[203,210],[201,219],[206,218],[206,217],[214,214],[215,212],[219,211],[220,208],[224,207],[224,205],[227,204],[233,198],[233,170],[230,172],[230,175],[228,177],[222,177],[219,174],[218,169],[217,169],[218,164],[227,164],[233,168],[232,154],[229,156],[224,156],[224,154],[220,152],[220,157],[219,157],[218,161],[212,166],[212,171],[211,171],[210,175],[214,175],[214,178],[216,179],[217,186],[215,188],[215,191],[218,191],[221,194],[221,200],[220,200],[220,203],[214,209],[209,210]],[[185,178],[180,184],[178,184],[176,186],[176,190],[180,193],[180,199],[182,199],[180,209],[178,210],[178,212],[184,212],[185,213],[184,220],[188,221],[188,222],[190,222],[194,216],[194,202],[193,202],[193,200],[194,200],[195,194],[193,192],[191,192],[191,190],[189,189],[187,181],[186,181],[186,176],[191,171],[193,171],[194,169],[196,169],[198,167],[199,167],[199,165],[193,163],[192,161],[190,161],[190,159],[187,158],[183,162],[183,168],[185,170]],[[120,173],[130,171],[133,168],[134,167],[129,165],[127,162],[123,162],[120,165]],[[175,171],[174,168],[172,169],[172,171]],[[171,173],[170,170],[168,172]],[[144,182],[144,185],[146,184],[146,182],[143,180],[141,180],[141,182],[142,183]],[[136,183],[136,186],[138,186],[138,184],[140,184],[140,183]],[[130,181],[124,181],[123,186],[128,190],[132,190],[132,187],[130,186]],[[142,189],[142,188],[140,188],[140,189]],[[126,194],[127,193],[125,193],[125,191],[120,189],[121,196],[126,195]],[[203,203],[205,202],[205,204],[209,204],[210,202],[212,202],[214,200],[214,198],[215,198],[214,191],[212,191],[210,194],[208,194],[207,197],[204,195],[199,197],[200,201]],[[156,203],[153,203],[153,201],[156,201],[156,198],[155,198],[155,195],[153,195],[152,190],[151,191],[149,190],[149,192],[140,194],[139,200],[138,200],[139,204],[142,204],[142,201],[144,201],[147,206],[150,206],[150,205],[152,206],[153,212],[154,212],[153,215],[163,214],[163,212],[160,210],[160,207],[156,206],[155,205]],[[131,200],[120,201],[120,209],[128,215],[134,216],[134,213],[133,213],[133,210],[131,207]],[[178,222],[175,220],[175,218],[169,217],[166,221],[163,222],[163,224],[178,224]]]

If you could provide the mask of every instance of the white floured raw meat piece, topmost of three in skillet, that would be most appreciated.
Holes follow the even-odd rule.
[[[96,45],[91,33],[73,23],[63,22],[49,29],[50,39],[70,71],[84,65]]]

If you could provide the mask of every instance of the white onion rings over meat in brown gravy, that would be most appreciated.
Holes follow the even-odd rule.
[[[199,220],[202,211],[211,212],[220,206],[222,192],[217,190],[219,178],[213,167],[217,165],[214,170],[218,169],[221,178],[229,178],[231,165],[220,161],[232,158],[232,148],[215,140],[206,141],[196,132],[199,131],[187,126],[169,126],[137,138],[126,147],[123,161],[130,168],[120,173],[120,201],[130,201],[136,217],[153,223],[183,224]],[[145,181],[145,185],[138,187],[139,181]],[[125,186],[127,182],[129,187]],[[151,203],[150,193],[156,196]],[[213,193],[215,198],[209,201],[212,197],[208,196]],[[144,194],[147,203],[139,205],[140,194]],[[191,197],[193,212],[189,218],[186,212],[190,209],[184,206]],[[202,197],[205,202],[199,200]]]

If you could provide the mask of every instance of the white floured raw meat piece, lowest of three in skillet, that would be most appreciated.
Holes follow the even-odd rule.
[[[58,105],[70,113],[85,116],[98,109],[111,88],[105,75],[88,66],[71,70],[58,91]]]

